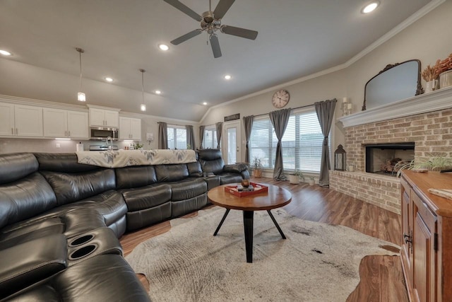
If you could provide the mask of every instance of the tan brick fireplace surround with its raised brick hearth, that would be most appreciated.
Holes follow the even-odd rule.
[[[400,214],[400,181],[365,173],[366,144],[415,142],[415,160],[452,156],[452,109],[345,128],[347,166],[356,172],[330,171],[330,188]]]

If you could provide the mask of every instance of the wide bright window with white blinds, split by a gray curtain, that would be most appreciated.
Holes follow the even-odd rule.
[[[283,139],[285,170],[319,172],[323,134],[313,110],[292,112]],[[250,137],[250,158],[261,158],[264,168],[275,168],[276,138],[270,117],[254,120]]]

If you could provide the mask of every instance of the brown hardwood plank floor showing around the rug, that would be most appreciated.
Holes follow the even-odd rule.
[[[251,181],[278,185],[290,190],[292,202],[284,209],[300,219],[348,226],[369,236],[400,245],[401,217],[398,214],[318,185],[309,186],[304,182],[300,185],[291,185],[287,181],[278,182],[271,178],[258,178]],[[186,216],[196,216],[196,214],[195,212]],[[165,221],[127,233],[121,238],[124,255],[128,255],[138,243],[165,233],[169,228],[171,228],[169,221]],[[408,301],[400,257],[364,257],[359,267],[359,275],[361,277],[359,285],[350,294],[347,302]],[[140,279],[148,288],[145,277],[140,276]]]

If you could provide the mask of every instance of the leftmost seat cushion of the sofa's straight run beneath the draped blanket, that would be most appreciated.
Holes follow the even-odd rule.
[[[156,207],[171,200],[171,187],[166,184],[121,190],[129,211]]]

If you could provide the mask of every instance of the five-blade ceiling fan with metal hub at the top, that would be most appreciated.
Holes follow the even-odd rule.
[[[210,46],[212,47],[213,57],[218,58],[221,57],[221,49],[220,42],[218,42],[218,37],[216,35],[216,31],[220,30],[221,33],[225,33],[227,35],[235,35],[237,37],[244,37],[246,39],[255,40],[257,37],[256,30],[247,30],[245,28],[236,28],[230,25],[221,25],[221,19],[225,16],[227,10],[232,6],[235,0],[220,0],[218,2],[217,7],[214,11],[212,11],[211,3],[209,0],[209,10],[204,12],[201,16],[198,15],[195,11],[192,11],[191,8],[185,6],[178,0],[163,0],[167,2],[167,4],[171,4],[175,8],[182,11],[186,15],[194,18],[196,21],[201,23],[201,28],[196,30],[192,30],[190,33],[186,33],[171,41],[172,45],[179,45],[186,40],[191,39],[192,37],[196,37],[196,35],[201,34],[203,31],[206,31],[209,35]]]

